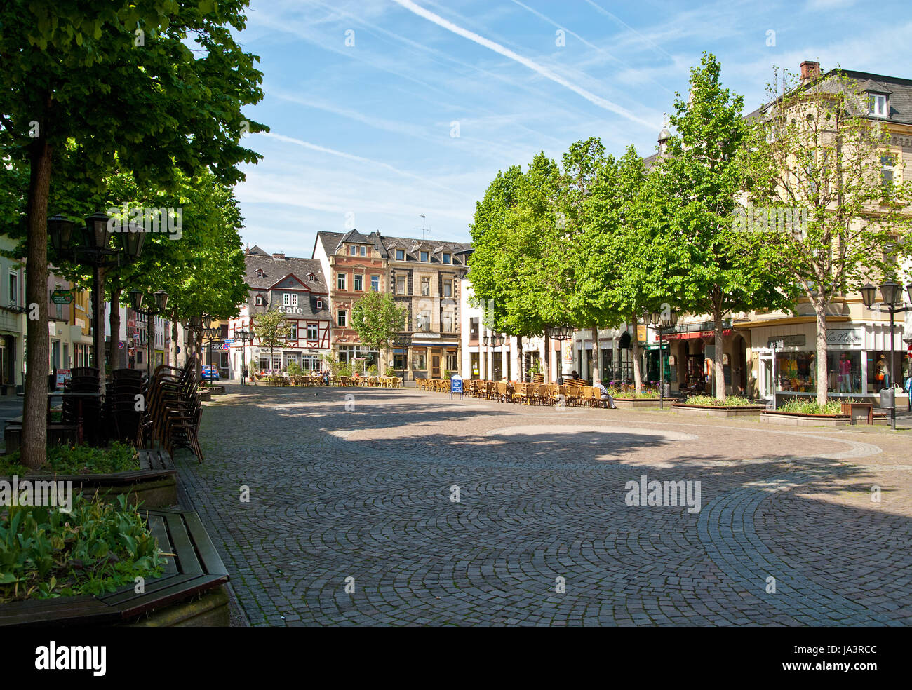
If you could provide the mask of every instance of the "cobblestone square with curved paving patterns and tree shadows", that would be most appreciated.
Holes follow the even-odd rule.
[[[907,625],[912,435],[865,432],[230,386],[178,464],[253,625]]]

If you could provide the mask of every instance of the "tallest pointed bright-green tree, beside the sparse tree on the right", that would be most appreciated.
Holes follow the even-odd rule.
[[[720,71],[706,53],[691,69],[690,98],[678,95],[670,117],[677,131],[668,139],[668,156],[658,162],[661,184],[653,203],[661,211],[656,242],[665,259],[656,272],[667,286],[658,292],[677,294],[691,314],[711,315],[713,379],[716,397],[724,400],[723,318],[788,308],[792,299],[779,252],[756,233],[733,227],[748,126],[741,116],[743,98],[722,87]]]

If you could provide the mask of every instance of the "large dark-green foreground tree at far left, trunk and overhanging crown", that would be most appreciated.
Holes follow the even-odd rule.
[[[243,179],[237,164],[259,156],[241,138],[264,129],[241,113],[263,97],[257,58],[233,37],[244,28],[246,5],[0,5],[0,146],[28,161],[26,303],[38,308],[28,321],[26,355],[22,449],[29,467],[40,465],[46,444],[47,203],[56,157],[72,141],[85,179],[99,186],[115,155],[140,182],[161,187],[174,185],[175,170],[208,167],[223,182]]]

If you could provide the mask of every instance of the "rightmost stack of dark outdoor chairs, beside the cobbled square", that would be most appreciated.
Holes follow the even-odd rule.
[[[148,382],[138,444],[157,441],[171,457],[174,448],[189,448],[202,462],[198,439],[202,402],[198,388],[195,357],[182,368],[158,366]]]

